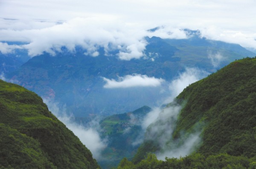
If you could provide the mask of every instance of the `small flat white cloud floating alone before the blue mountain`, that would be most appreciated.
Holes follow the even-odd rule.
[[[163,79],[155,77],[148,77],[147,75],[133,74],[124,77],[118,77],[118,80],[107,79],[103,77],[106,82],[105,88],[127,88],[127,87],[157,87],[160,86]]]

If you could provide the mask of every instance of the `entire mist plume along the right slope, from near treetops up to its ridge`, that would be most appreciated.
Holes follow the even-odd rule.
[[[134,145],[141,144],[145,140],[157,141],[160,151],[157,152],[157,158],[164,160],[165,157],[184,157],[189,155],[196,146],[200,144],[201,130],[195,130],[191,133],[180,133],[178,140],[173,140],[172,133],[175,130],[176,122],[182,105],[175,101],[175,97],[190,84],[206,77],[209,73],[198,68],[186,68],[183,73],[169,82],[170,96],[163,101],[166,106],[154,107],[151,112],[145,115],[141,122],[141,127],[145,133],[139,135],[134,141]]]

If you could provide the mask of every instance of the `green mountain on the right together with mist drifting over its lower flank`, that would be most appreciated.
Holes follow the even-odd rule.
[[[186,87],[148,127],[137,164],[123,159],[119,168],[255,168],[255,71],[256,58],[245,58]],[[188,143],[191,154],[179,158]],[[148,152],[176,158],[148,154],[143,160]]]

